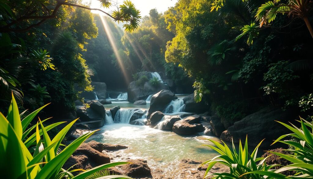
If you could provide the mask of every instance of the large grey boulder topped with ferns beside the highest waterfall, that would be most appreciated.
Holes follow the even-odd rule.
[[[151,72],[148,71],[142,71],[138,72],[138,79],[141,76],[147,76],[148,80],[152,78]],[[142,86],[136,85],[136,81],[133,81],[129,84],[127,88],[128,93],[128,101],[129,102],[135,102],[138,100],[146,100],[146,98],[150,94],[157,93],[161,91],[162,89],[169,89],[168,85],[159,83],[157,86],[152,86],[149,82],[145,82]]]

